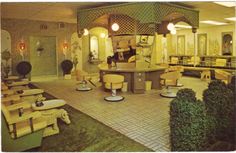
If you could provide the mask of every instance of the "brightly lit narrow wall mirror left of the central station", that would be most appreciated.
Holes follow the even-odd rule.
[[[90,36],[89,57],[90,57],[90,60],[98,59],[98,37],[97,36]]]

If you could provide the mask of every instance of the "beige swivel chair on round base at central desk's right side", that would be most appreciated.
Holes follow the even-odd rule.
[[[170,90],[170,86],[177,86],[178,79],[180,79],[181,73],[179,71],[172,71],[161,74],[161,84],[166,86],[166,91],[161,92],[161,96],[167,98],[175,98],[176,93]]]

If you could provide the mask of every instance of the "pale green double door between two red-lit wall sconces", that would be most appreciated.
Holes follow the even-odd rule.
[[[56,37],[30,37],[31,77],[57,76]]]

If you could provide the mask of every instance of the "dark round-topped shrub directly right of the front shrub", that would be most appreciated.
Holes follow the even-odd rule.
[[[206,105],[208,140],[212,142],[232,139],[235,130],[233,92],[224,82],[215,80],[203,92],[203,100]]]

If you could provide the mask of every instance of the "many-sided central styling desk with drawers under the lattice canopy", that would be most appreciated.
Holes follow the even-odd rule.
[[[150,68],[136,67],[111,67],[103,65],[99,67],[100,79],[103,82],[105,74],[120,74],[125,77],[128,83],[128,91],[133,93],[144,93],[145,81],[152,81],[152,89],[161,89],[160,74],[164,73],[165,68],[160,66],[152,66]]]

